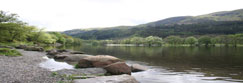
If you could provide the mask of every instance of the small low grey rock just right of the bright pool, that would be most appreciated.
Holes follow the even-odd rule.
[[[64,61],[71,61],[71,62],[78,62],[81,59],[87,58],[91,55],[86,55],[86,54],[70,54],[66,58],[64,58]]]

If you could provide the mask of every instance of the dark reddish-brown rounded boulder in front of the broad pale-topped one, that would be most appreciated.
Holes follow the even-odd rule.
[[[107,73],[111,75],[129,74],[131,75],[131,68],[125,62],[116,62],[104,67]]]

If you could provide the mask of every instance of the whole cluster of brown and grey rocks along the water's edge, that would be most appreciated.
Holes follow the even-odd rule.
[[[42,47],[20,45],[17,49],[24,49],[26,51],[44,52]],[[76,68],[69,70],[60,70],[59,73],[64,74],[78,74],[78,73],[104,73],[111,76],[95,76],[89,79],[76,79],[74,83],[94,83],[94,82],[108,82],[109,83],[138,83],[138,81],[130,76],[131,72],[139,72],[147,70],[147,68],[133,64],[128,66],[124,60],[110,55],[88,55],[84,52],[71,50],[47,50],[48,57],[55,60],[62,60],[66,62],[76,62]],[[81,71],[81,72],[80,72]],[[78,78],[78,77],[77,77]],[[116,79],[114,79],[116,78]]]

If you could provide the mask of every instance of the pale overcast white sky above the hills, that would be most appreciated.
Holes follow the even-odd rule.
[[[138,25],[175,16],[196,16],[243,8],[243,0],[0,0],[0,10],[16,13],[47,31]]]

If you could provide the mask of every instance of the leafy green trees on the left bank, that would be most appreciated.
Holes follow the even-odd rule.
[[[82,40],[59,32],[44,32],[18,19],[17,14],[0,11],[0,43],[81,44]]]

